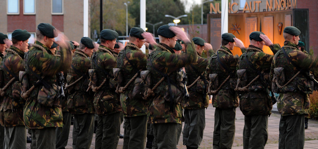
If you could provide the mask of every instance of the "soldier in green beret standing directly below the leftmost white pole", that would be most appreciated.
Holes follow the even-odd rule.
[[[67,108],[74,114],[73,148],[89,149],[93,139],[94,111],[93,92],[86,91],[89,84],[88,70],[93,53],[93,40],[82,37],[78,50],[75,50],[72,65],[67,73]],[[76,127],[75,127],[76,126]]]

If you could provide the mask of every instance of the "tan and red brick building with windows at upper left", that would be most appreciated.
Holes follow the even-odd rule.
[[[0,32],[11,38],[16,29],[31,33],[40,23],[50,23],[70,39],[83,37],[83,1],[80,0],[0,0]],[[90,35],[90,33],[88,33]]]

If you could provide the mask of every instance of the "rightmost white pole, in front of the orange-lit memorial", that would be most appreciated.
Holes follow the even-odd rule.
[[[229,20],[229,3],[228,0],[222,0],[221,4],[221,34],[228,32]]]

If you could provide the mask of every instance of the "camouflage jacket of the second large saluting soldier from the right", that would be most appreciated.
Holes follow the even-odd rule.
[[[274,44],[271,45],[270,48],[275,54],[280,49],[280,45]],[[244,80],[245,77],[240,78],[242,75],[237,73],[240,79],[238,83],[242,85],[241,87],[244,87],[244,84],[249,84],[256,78],[256,76],[258,76],[257,71],[263,71],[262,76],[250,85],[248,91],[242,92],[240,95],[239,107],[244,115],[268,115],[271,113],[273,105],[269,96],[269,87],[271,86],[269,83],[271,82],[269,80],[269,71],[273,57],[273,55],[266,54],[253,45],[249,45],[249,48],[240,56],[236,69],[246,69],[245,75],[247,75],[247,80],[243,83],[242,80]],[[250,67],[249,62],[247,62],[245,58],[252,63],[252,67]]]

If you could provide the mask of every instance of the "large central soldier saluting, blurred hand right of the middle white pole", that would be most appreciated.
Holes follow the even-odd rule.
[[[197,54],[194,45],[180,28],[162,25],[157,32],[160,43],[156,50],[149,54],[147,61],[147,70],[151,73],[151,87],[157,86],[152,89],[154,94],[149,107],[155,137],[152,148],[174,149],[181,127],[181,106],[184,98],[183,73],[179,70],[196,63]],[[176,37],[185,42],[186,52],[180,55],[174,54],[172,49],[175,47]]]

